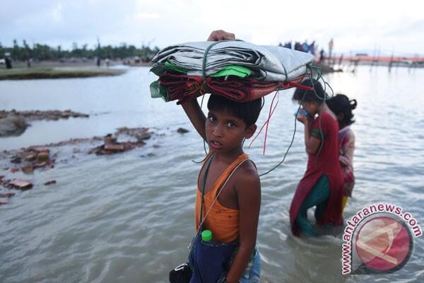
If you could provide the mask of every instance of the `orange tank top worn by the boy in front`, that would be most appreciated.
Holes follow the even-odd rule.
[[[211,158],[211,154],[206,158],[206,161]],[[218,200],[213,203],[220,192],[221,187],[224,185],[225,181],[230,178],[230,175],[235,168],[242,162],[246,161],[249,158],[247,154],[241,154],[239,157],[232,161],[230,166],[228,166],[225,171],[220,175],[218,180],[216,180],[215,185],[211,190],[204,195],[204,207],[203,207],[203,217],[208,212],[208,209],[211,207],[206,219],[204,221],[204,229],[209,229],[212,231],[213,239],[222,243],[231,243],[237,240],[239,236],[239,211],[238,209],[230,209],[224,207],[218,202]],[[206,164],[206,161],[203,167]],[[202,168],[203,168],[202,167]],[[202,171],[202,170],[201,170]],[[200,171],[200,172],[201,172]],[[199,173],[200,175],[200,173]],[[199,228],[199,217],[200,217],[200,207],[201,207],[201,190],[196,190],[196,230]]]

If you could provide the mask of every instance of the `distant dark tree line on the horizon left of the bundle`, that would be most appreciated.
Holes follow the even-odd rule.
[[[51,47],[34,43],[31,47],[26,40],[19,45],[17,40],[13,40],[12,47],[5,47],[0,43],[0,58],[5,57],[5,53],[10,53],[11,59],[15,61],[26,61],[28,59],[35,60],[60,60],[66,58],[100,58],[100,59],[124,59],[128,57],[139,57],[143,61],[150,61],[156,53],[159,52],[158,47],[153,49],[150,46],[142,45],[140,48],[135,45],[126,45],[122,43],[119,46],[105,45],[100,43],[93,48],[89,48],[87,44],[78,46],[73,42],[71,50],[62,49],[61,45]]]

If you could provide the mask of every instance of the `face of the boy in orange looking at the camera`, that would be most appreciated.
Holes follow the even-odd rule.
[[[206,139],[213,151],[225,153],[240,147],[243,139],[252,137],[256,128],[256,125],[247,127],[245,121],[226,110],[210,110],[206,119]]]

